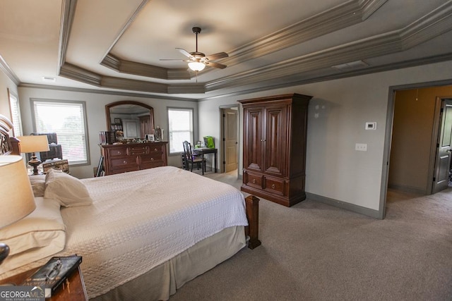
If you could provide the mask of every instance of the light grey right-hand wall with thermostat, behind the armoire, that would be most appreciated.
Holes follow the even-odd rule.
[[[309,104],[306,191],[357,207],[379,210],[388,92],[391,86],[452,78],[452,61],[353,78],[299,85],[270,92],[200,102],[200,136],[220,137],[218,106],[239,99],[284,93],[313,96]],[[241,109],[240,131],[243,128]],[[376,130],[364,130],[367,121]],[[242,168],[242,135],[239,168]],[[355,151],[367,143],[367,152]],[[240,171],[240,173],[242,173]],[[384,196],[383,196],[384,197]]]

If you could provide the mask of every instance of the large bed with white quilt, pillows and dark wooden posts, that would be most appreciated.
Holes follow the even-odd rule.
[[[2,139],[4,155],[17,149],[16,140]],[[21,259],[10,245],[16,265],[8,257],[0,278],[40,266],[54,254],[79,254],[90,300],[168,300],[184,283],[246,245],[261,244],[258,198],[244,199],[230,185],[181,168],[82,180],[51,171],[30,182],[37,207],[44,207],[42,215],[54,223],[45,238],[52,242],[47,253],[54,253],[31,261],[28,252]],[[37,214],[39,210],[18,223],[35,224]],[[4,232],[0,230],[0,241]]]

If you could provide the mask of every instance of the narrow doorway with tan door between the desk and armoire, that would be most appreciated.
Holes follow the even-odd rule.
[[[239,106],[220,107],[220,171],[239,176]]]

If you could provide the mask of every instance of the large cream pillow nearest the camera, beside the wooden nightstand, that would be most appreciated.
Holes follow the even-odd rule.
[[[36,209],[16,223],[0,229],[0,242],[10,249],[0,274],[17,269],[64,249],[66,226],[56,199],[35,197]]]

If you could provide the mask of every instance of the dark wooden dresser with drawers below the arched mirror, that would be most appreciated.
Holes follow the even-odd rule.
[[[100,145],[104,157],[105,176],[128,171],[167,166],[168,142]]]

